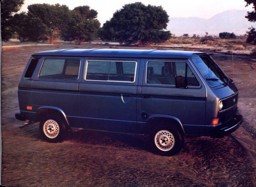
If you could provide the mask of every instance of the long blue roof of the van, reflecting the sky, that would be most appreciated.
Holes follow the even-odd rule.
[[[195,51],[170,51],[159,49],[62,49],[34,53],[32,56],[74,56],[74,57],[125,57],[125,58],[175,58],[189,59],[206,53]]]

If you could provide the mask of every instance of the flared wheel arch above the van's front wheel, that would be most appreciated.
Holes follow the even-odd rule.
[[[147,124],[147,133],[150,133],[150,130],[156,127],[157,123],[164,123],[168,124],[170,126],[175,126],[180,130],[182,135],[185,135],[184,128],[182,126],[181,121],[176,118],[175,116],[169,116],[169,115],[152,115],[148,118],[146,124]]]

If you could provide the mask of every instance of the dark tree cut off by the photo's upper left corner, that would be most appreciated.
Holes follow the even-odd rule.
[[[11,19],[13,13],[18,12],[22,7],[24,0],[1,0],[1,34],[2,40],[8,41],[12,34]]]

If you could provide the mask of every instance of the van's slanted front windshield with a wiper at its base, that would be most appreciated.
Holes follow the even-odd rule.
[[[210,56],[196,56],[192,58],[192,61],[210,86],[217,86],[230,81]]]

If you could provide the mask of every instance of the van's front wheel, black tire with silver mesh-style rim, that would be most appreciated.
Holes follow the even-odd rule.
[[[183,147],[183,136],[175,127],[160,126],[150,135],[153,151],[162,156],[177,154]]]

